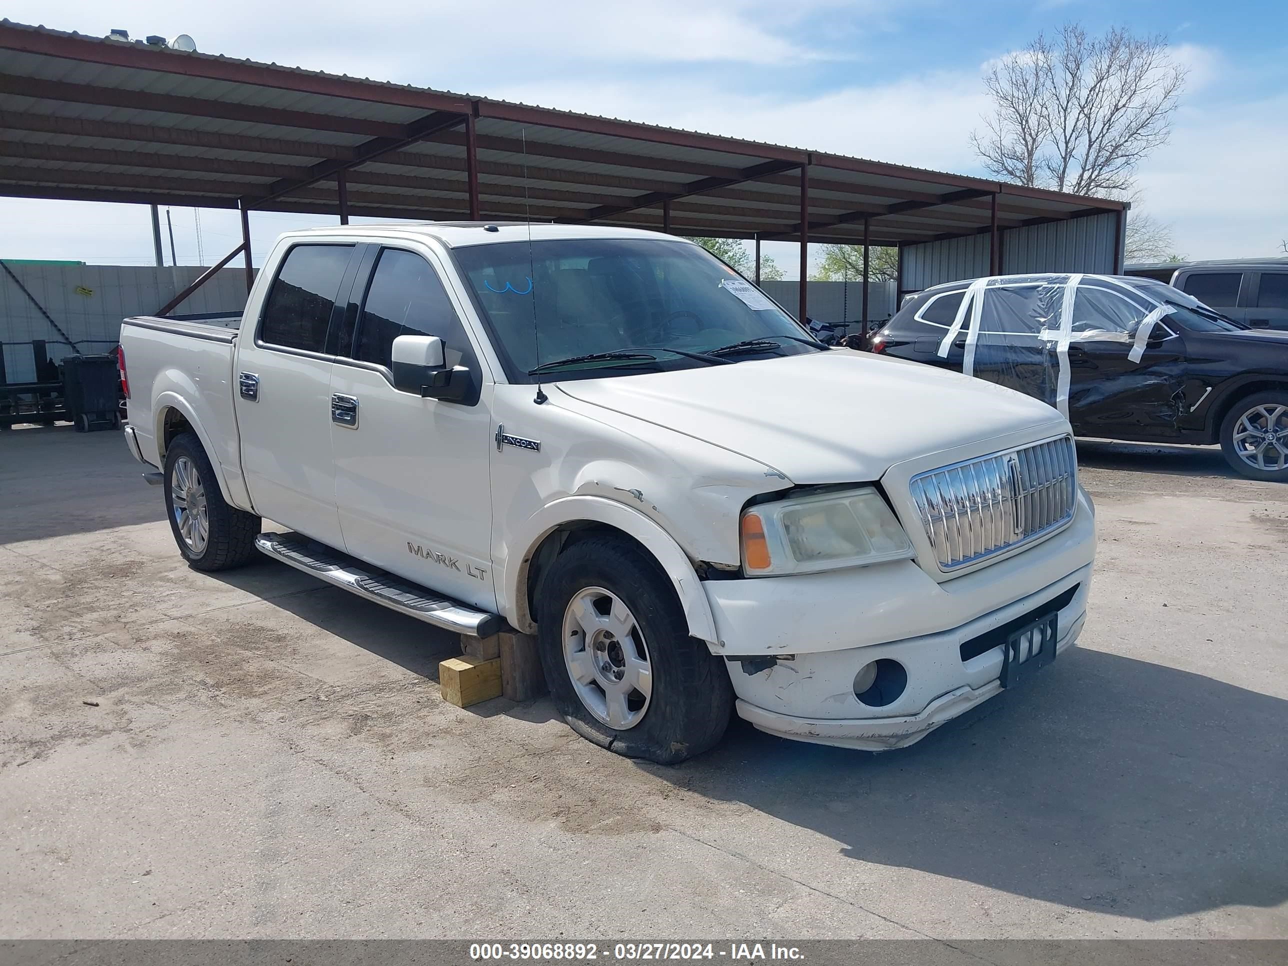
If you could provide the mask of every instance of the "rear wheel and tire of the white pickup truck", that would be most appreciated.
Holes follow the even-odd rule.
[[[174,542],[189,567],[228,571],[255,556],[260,519],[228,505],[193,433],[175,437],[166,451],[165,509]]]

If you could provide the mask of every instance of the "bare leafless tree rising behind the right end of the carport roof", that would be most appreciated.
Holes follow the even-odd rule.
[[[1162,36],[1115,27],[1088,37],[1068,23],[988,72],[993,113],[971,143],[1001,179],[1124,194],[1141,160],[1167,143],[1185,77]]]

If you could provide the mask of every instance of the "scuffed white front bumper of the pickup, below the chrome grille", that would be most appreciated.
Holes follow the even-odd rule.
[[[931,730],[1001,690],[1003,625],[1059,605],[1056,653],[1077,641],[1095,558],[1095,510],[1079,491],[1073,520],[1024,553],[953,580],[916,563],[800,577],[703,583],[730,658],[738,714],[797,741],[884,751]],[[1060,598],[1061,600],[1057,600]],[[981,641],[975,639],[990,635]],[[961,645],[987,647],[963,658]],[[768,670],[737,658],[777,658]],[[907,684],[880,707],[854,692],[873,661],[898,662]]]

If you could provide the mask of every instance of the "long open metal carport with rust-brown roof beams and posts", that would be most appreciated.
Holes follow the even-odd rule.
[[[1101,243],[1088,249],[1096,264],[1046,268],[1119,270],[1126,207],[9,21],[0,21],[0,194],[240,209],[242,245],[218,267],[241,254],[247,283],[255,210],[743,238],[756,242],[757,276],[761,241],[799,241],[802,317],[808,242],[898,246],[902,292],[913,287],[903,283],[908,246],[961,247],[996,274],[1007,233],[1106,215],[1112,265]],[[936,270],[914,287],[949,281]]]

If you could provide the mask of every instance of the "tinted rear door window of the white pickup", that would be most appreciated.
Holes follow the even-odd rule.
[[[352,254],[352,245],[296,245],[291,249],[264,303],[260,341],[326,352],[331,309]]]

